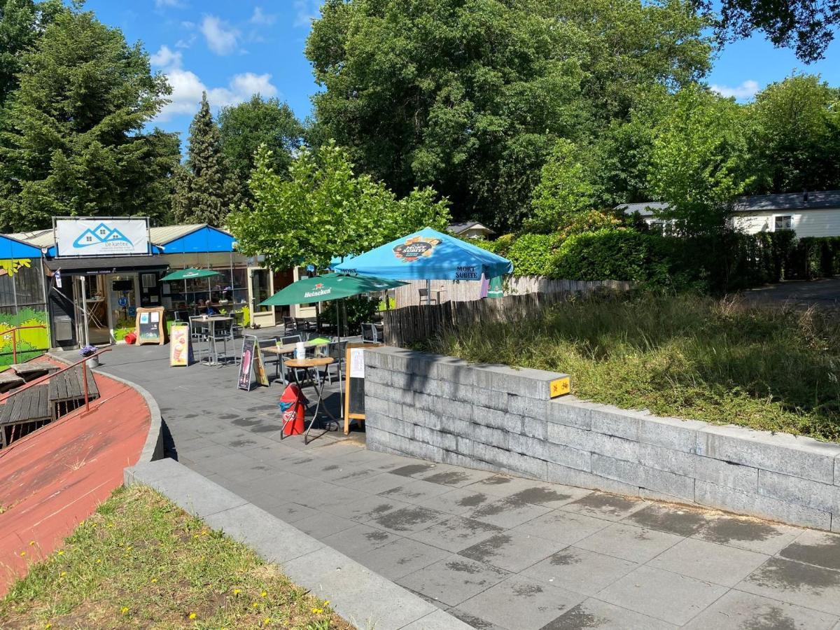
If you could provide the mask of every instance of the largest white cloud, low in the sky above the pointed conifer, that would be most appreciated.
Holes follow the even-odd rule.
[[[192,116],[202,102],[202,92],[207,92],[207,100],[213,109],[243,102],[257,92],[264,97],[277,95],[277,88],[271,83],[270,74],[243,72],[234,75],[228,87],[207,87],[195,72],[176,67],[166,72],[166,78],[172,87],[169,97],[171,102],[158,114],[157,120],[160,122],[183,114]]]

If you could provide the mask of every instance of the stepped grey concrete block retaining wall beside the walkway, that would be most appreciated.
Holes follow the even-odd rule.
[[[560,376],[367,349],[368,448],[840,531],[840,444],[550,399]]]

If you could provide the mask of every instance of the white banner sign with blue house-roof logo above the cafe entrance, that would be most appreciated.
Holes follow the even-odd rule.
[[[59,256],[120,256],[149,253],[144,218],[60,218],[55,221]]]

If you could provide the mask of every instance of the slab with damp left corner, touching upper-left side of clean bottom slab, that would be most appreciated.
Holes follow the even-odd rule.
[[[523,570],[522,575],[583,595],[596,595],[637,567],[629,560],[566,547]]]

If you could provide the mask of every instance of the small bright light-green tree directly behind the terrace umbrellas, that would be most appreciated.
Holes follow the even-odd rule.
[[[249,181],[253,209],[228,216],[244,255],[265,255],[272,269],[325,268],[334,256],[360,254],[424,227],[444,229],[447,203],[429,189],[397,198],[368,175],[356,176],[347,152],[331,142],[302,149],[289,177],[272,170],[265,147]]]

